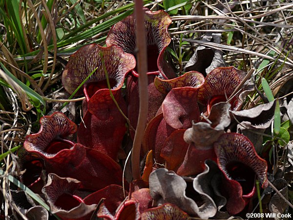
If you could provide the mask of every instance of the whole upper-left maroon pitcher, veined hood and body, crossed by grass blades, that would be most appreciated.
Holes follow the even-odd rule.
[[[126,74],[135,65],[134,57],[116,45],[101,47],[97,44],[90,44],[82,47],[70,57],[63,72],[64,88],[72,93],[88,74],[98,67],[84,84],[87,106],[84,103],[83,110],[84,112],[88,110],[95,117],[85,113],[84,125],[79,128],[78,140],[85,146],[103,152],[114,160],[117,160],[117,154],[126,132],[126,120],[110,96],[106,73],[109,77],[111,93],[119,108],[126,114],[126,103],[122,98],[121,88]],[[105,124],[108,130],[105,129]],[[112,135],[113,133],[115,135]]]

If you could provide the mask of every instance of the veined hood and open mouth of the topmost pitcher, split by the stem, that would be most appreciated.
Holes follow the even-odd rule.
[[[144,8],[146,24],[146,50],[147,50],[147,69],[148,73],[158,74],[160,72],[164,78],[164,51],[171,38],[167,33],[171,18],[168,14],[159,10],[152,12]],[[135,19],[133,15],[126,17],[124,20],[117,22],[112,26],[106,38],[106,44],[118,45],[126,53],[130,53],[136,58],[136,38],[135,38]],[[133,69],[133,75],[138,76],[137,68]]]

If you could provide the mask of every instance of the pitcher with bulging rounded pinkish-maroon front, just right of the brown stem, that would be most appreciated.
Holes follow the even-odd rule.
[[[162,80],[158,77],[155,79],[156,88],[167,93],[167,96],[162,103],[162,109],[158,111],[158,113],[163,113],[154,117],[146,127],[143,147],[145,153],[153,150],[156,162],[164,163],[162,156],[167,156],[169,161],[172,160],[170,157],[172,154],[167,153],[175,152],[172,150],[172,147],[175,146],[171,146],[171,143],[176,142],[176,145],[179,146],[186,145],[182,136],[178,139],[181,140],[180,144],[173,137],[170,139],[168,137],[177,129],[191,127],[191,121],[199,121],[200,114],[196,101],[198,89],[203,83],[204,77],[198,72],[188,72],[172,80]],[[164,155],[165,153],[161,155],[164,145],[168,148],[165,152],[168,155]],[[179,165],[180,163],[177,160],[171,168]]]

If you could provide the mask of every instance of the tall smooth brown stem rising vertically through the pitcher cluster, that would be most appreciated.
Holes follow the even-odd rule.
[[[147,94],[147,57],[146,57],[146,28],[143,11],[143,0],[135,1],[136,19],[136,49],[138,66],[138,85],[139,85],[139,115],[136,132],[133,140],[131,155],[131,166],[133,179],[141,179],[140,175],[140,149],[146,128],[146,118],[148,112]]]

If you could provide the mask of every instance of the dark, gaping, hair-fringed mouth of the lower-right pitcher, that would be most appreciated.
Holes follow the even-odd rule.
[[[227,179],[237,181],[242,187],[244,198],[255,192],[255,177],[266,186],[267,162],[260,158],[251,143],[239,133],[225,133],[214,143],[218,166]]]

